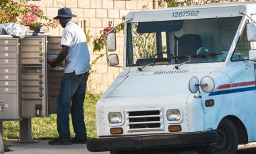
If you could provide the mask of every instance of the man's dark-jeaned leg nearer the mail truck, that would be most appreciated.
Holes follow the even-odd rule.
[[[86,82],[89,73],[81,74],[81,82],[72,98],[71,117],[73,129],[75,132],[75,139],[86,139],[86,125],[84,123],[84,98],[86,94]]]

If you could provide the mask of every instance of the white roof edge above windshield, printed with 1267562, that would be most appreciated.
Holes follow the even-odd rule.
[[[241,12],[247,13],[247,15],[256,13],[256,2],[217,3],[132,11],[128,13],[126,18],[130,19],[129,22],[168,21],[213,17],[236,17],[243,15]]]

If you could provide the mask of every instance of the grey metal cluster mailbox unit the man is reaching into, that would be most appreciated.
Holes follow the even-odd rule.
[[[61,37],[0,35],[0,121],[55,113],[63,69],[47,65],[59,54]]]

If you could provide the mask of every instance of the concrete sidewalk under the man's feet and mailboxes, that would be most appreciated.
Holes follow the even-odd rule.
[[[3,141],[11,149],[6,154],[109,154],[109,152],[91,153],[86,144],[73,145],[49,145],[47,140],[35,141],[34,143],[17,143],[17,141]]]

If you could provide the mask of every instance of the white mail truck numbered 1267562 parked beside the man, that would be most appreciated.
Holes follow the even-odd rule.
[[[254,20],[256,3],[130,12],[123,72],[98,101],[88,150],[236,153],[256,141]],[[106,43],[115,50],[115,34]]]

